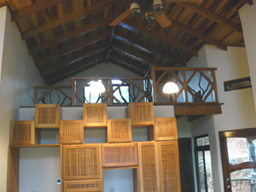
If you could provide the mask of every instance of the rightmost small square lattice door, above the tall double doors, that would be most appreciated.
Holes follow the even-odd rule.
[[[155,141],[177,140],[176,118],[155,118],[154,119],[154,140]]]

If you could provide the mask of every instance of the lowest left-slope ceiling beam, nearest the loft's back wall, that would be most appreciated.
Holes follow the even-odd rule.
[[[105,56],[98,58],[98,60],[106,59],[107,51],[105,51],[104,54],[102,54],[102,55],[105,55]],[[93,56],[91,56],[90,58],[87,58],[86,60],[78,61],[78,62],[74,63],[72,66],[62,69],[58,73],[49,74],[48,76],[46,76],[44,78],[44,82],[46,84],[53,84],[53,83],[58,82],[58,79],[61,79],[61,77],[63,77],[63,76],[65,76],[65,79],[66,79],[67,73],[72,73],[73,71],[78,70],[81,67],[88,66],[90,64],[93,64],[93,66],[95,66],[96,65],[95,61],[96,61],[96,58]]]

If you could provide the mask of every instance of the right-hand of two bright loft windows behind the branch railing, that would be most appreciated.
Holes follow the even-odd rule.
[[[113,93],[113,96],[115,96],[119,102],[128,104],[130,102],[130,84],[122,84],[122,81],[119,79],[113,79],[112,80],[112,89],[115,90],[119,87],[118,90],[115,90]],[[120,86],[119,86],[120,85]],[[113,98],[113,104],[119,104],[118,101],[116,101]]]

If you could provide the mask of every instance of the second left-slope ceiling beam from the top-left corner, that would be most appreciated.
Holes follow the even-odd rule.
[[[86,7],[84,9],[79,9],[78,11],[75,11],[71,14],[52,20],[49,23],[45,23],[44,25],[33,27],[32,29],[27,30],[26,32],[21,32],[21,37],[22,39],[31,38],[32,36],[37,35],[40,32],[44,32],[56,26],[61,26],[62,24],[67,23],[71,20],[76,20],[84,15],[89,15],[90,13],[93,13],[95,9],[103,9],[106,6],[117,2],[118,0],[101,1],[96,4],[96,8],[95,5],[90,5],[89,7]]]

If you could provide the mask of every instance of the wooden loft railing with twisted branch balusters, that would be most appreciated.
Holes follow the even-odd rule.
[[[35,103],[50,103],[53,102],[51,98],[55,98],[54,103],[61,101],[62,105],[72,106],[82,105],[84,102],[107,102],[108,105],[127,105],[129,102],[216,104],[218,94],[215,71],[216,68],[152,67],[143,78],[72,78],[72,86],[36,86]],[[91,99],[88,88],[90,81],[95,79],[102,80],[106,92]],[[113,80],[119,80],[119,84],[114,84]],[[177,83],[177,94],[162,92],[164,84],[169,80]],[[44,93],[38,94],[38,90],[44,90]]]

